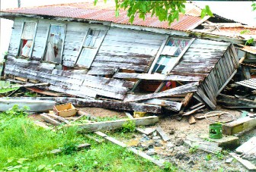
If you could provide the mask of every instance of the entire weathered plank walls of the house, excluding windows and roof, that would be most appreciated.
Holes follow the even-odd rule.
[[[34,49],[30,60],[14,58],[18,54],[18,45],[21,38],[22,24],[27,19],[14,20],[14,29],[11,35],[9,56],[5,67],[5,74],[24,77],[30,80],[50,83],[50,90],[76,95],[82,98],[94,99],[98,95],[110,99],[120,100],[129,98],[127,92],[133,88],[133,82],[123,80],[134,78],[134,74],[117,73],[115,78],[95,77],[91,75],[115,74],[119,69],[135,70],[136,73],[146,73],[159,55],[160,47],[167,40],[165,34],[151,33],[139,30],[120,29],[96,24],[61,22],[54,20],[36,20],[37,33],[34,40]],[[89,28],[106,30],[103,42],[98,48],[91,68],[88,70],[57,70],[56,64],[41,61],[50,24],[66,25],[66,37],[62,55],[63,65],[74,67],[82,48],[83,40]],[[95,52],[96,53],[96,52]],[[200,81],[199,86],[189,88],[186,92],[196,92],[197,98],[205,102],[210,108],[215,108],[216,96],[231,80],[238,67],[235,49],[230,43],[216,42],[205,39],[195,39],[184,53],[180,61],[168,73],[168,76],[156,75],[151,80],[178,80],[184,82]],[[153,76],[153,75],[152,75]],[[136,74],[139,80],[150,80],[151,74]],[[168,78],[168,79],[167,79]],[[189,85],[189,84],[188,84]],[[188,86],[185,85],[185,86]],[[178,87],[175,88],[179,89]],[[190,90],[191,89],[191,90]],[[173,90],[170,89],[169,92]],[[154,95],[154,94],[153,94]],[[131,102],[142,101],[141,95],[136,96]],[[130,95],[130,97],[133,97]],[[142,103],[158,102],[161,100],[150,97],[149,101]],[[165,101],[166,102],[166,101]],[[181,109],[181,102],[167,102],[174,111]],[[126,105],[130,106],[130,104]]]

